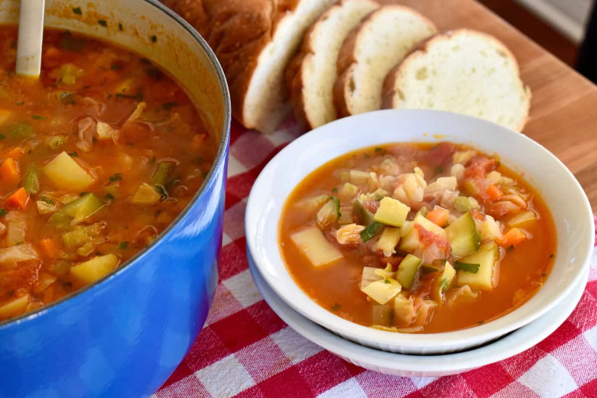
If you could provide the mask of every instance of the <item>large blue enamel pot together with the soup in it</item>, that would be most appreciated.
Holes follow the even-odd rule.
[[[0,396],[149,396],[217,285],[223,72],[157,1],[48,0],[17,76],[18,17],[0,1]]]

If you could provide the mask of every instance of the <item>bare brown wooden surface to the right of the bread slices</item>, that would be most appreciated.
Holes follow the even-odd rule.
[[[412,7],[439,30],[469,27],[504,42],[518,59],[522,81],[533,90],[524,134],[570,168],[597,210],[597,86],[474,0],[380,2]]]

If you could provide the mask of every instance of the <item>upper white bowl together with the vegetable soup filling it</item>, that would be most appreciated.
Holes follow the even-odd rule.
[[[286,303],[344,338],[438,354],[555,306],[589,266],[576,178],[481,119],[384,110],[309,132],[257,179],[248,255]]]

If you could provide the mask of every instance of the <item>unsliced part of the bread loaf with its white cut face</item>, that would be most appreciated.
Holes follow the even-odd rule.
[[[235,119],[263,132],[272,132],[290,110],[284,70],[304,32],[335,1],[162,0],[213,48]]]

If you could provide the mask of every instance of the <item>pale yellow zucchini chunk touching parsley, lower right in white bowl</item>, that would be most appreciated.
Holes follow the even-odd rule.
[[[469,285],[472,288],[492,290],[493,269],[500,257],[497,245],[494,242],[484,243],[479,251],[460,259],[461,263],[479,264],[477,273],[464,270],[458,271],[458,285]]]

